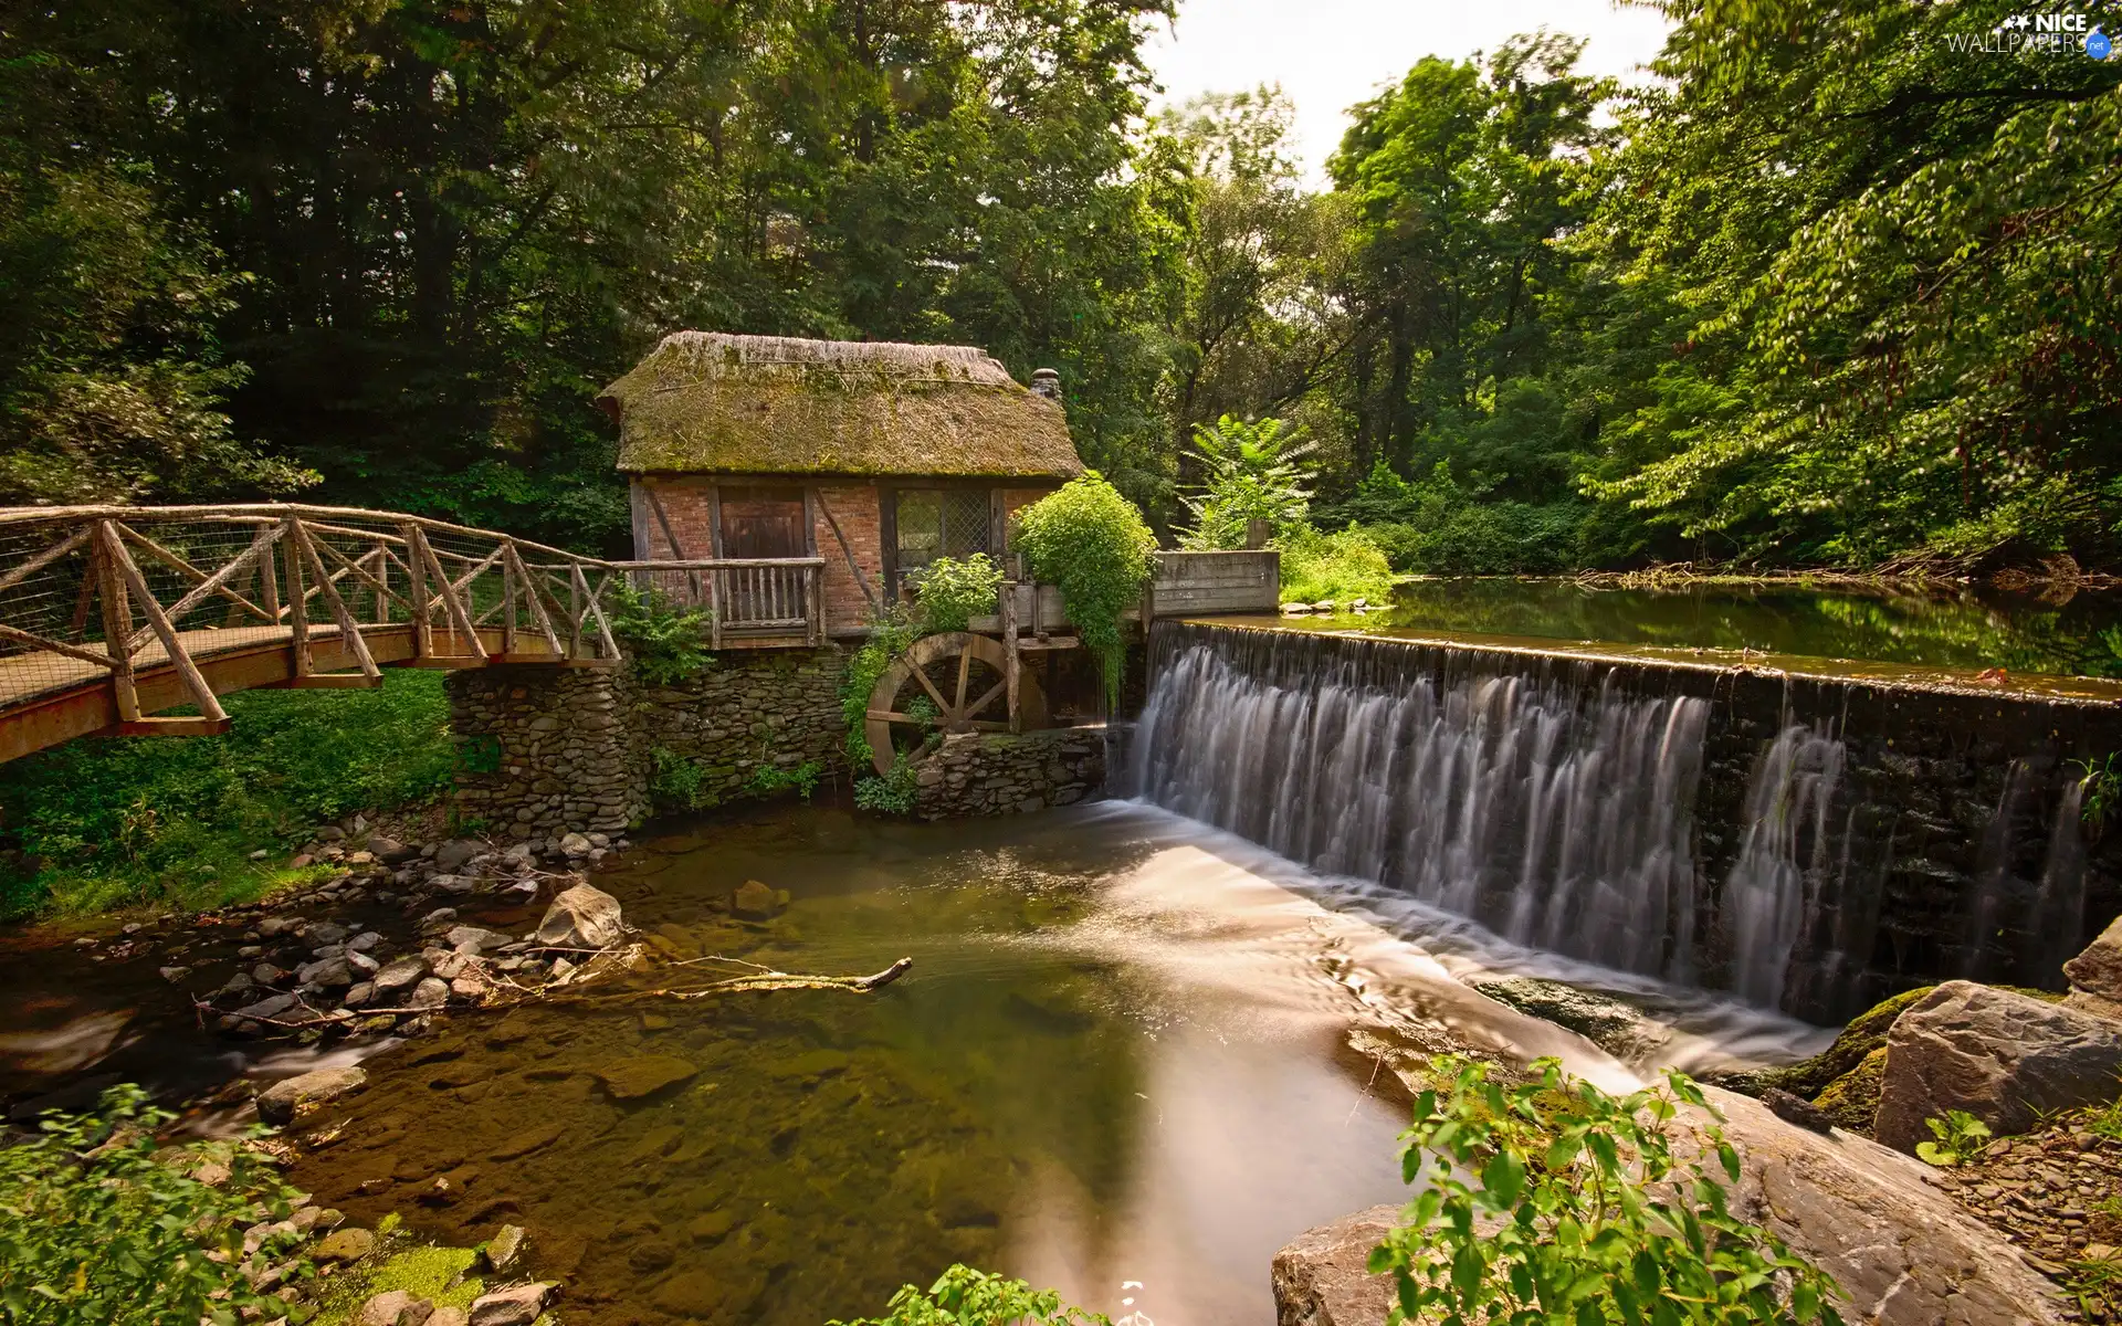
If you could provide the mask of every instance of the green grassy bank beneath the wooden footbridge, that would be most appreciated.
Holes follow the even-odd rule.
[[[367,692],[242,692],[227,736],[81,738],[0,766],[0,917],[208,908],[301,883],[274,861],[323,821],[450,785],[443,675]]]

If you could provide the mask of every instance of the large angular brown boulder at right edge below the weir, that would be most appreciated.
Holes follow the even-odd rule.
[[[1914,1152],[1929,1118],[1965,1110],[1997,1135],[2052,1110],[2116,1097],[2122,1025],[1969,980],[1948,980],[1893,1023],[1872,1135]]]

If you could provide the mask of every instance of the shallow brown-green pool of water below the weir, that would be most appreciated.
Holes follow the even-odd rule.
[[[789,910],[734,921],[728,895],[747,878],[789,889]],[[533,1271],[569,1284],[573,1326],[813,1326],[883,1311],[900,1284],[953,1260],[1116,1320],[1267,1326],[1277,1248],[1407,1197],[1405,1101],[1347,1052],[1352,1027],[1636,1080],[1462,982],[1521,972],[1653,1008],[1668,1035],[1645,1063],[1785,1061],[1825,1037],[1504,944],[1127,802],[953,825],[758,810],[654,838],[598,885],[668,957],[915,965],[870,997],[458,1014],[367,1061],[342,1139],[293,1180],[356,1222],[401,1211],[458,1243],[524,1224]],[[637,980],[726,970],[658,965]],[[134,976],[100,984],[125,991]],[[142,1063],[193,1078],[259,1069],[225,1042],[142,1020],[146,984],[125,999],[136,1012],[117,1042],[132,1040],[134,1076]],[[119,1016],[72,1012],[66,1025],[83,1029]],[[161,1059],[138,1059],[151,1046]],[[259,1071],[308,1067],[278,1054]],[[658,1065],[690,1076],[626,1095],[628,1074]]]

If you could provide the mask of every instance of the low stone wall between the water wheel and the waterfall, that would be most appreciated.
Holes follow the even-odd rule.
[[[1106,783],[1106,730],[968,732],[915,764],[915,815],[1016,815],[1067,806]]]

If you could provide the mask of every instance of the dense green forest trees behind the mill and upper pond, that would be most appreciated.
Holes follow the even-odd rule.
[[[1657,0],[1150,115],[1169,0],[0,0],[0,501],[622,547],[696,327],[1057,367],[1176,537],[1282,420],[1403,569],[2122,560],[2122,59],[2003,0]]]

